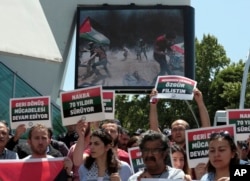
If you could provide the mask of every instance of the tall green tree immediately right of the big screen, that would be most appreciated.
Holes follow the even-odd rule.
[[[196,47],[196,63],[195,63],[195,80],[197,87],[203,94],[204,102],[207,106],[210,119],[214,117],[216,109],[214,109],[215,100],[212,99],[211,94],[214,89],[211,85],[217,74],[225,69],[230,64],[230,59],[227,58],[226,52],[222,45],[218,43],[216,37],[212,35],[204,35],[199,42],[195,40]],[[198,113],[195,106],[195,112]],[[197,115],[198,116],[198,115]]]

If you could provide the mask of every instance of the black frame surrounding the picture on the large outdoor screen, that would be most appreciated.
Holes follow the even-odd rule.
[[[194,33],[194,8],[191,6],[180,5],[180,6],[169,6],[169,5],[78,5],[76,12],[76,54],[75,54],[75,89],[92,86],[91,84],[86,84],[84,86],[79,85],[79,51],[80,51],[80,26],[82,22],[89,16],[88,12],[91,12],[91,16],[94,19],[98,19],[98,12],[107,11],[110,12],[125,12],[131,11],[136,12],[137,10],[142,10],[145,12],[150,12],[151,10],[168,11],[177,10],[181,11],[183,18],[183,40],[184,40],[184,69],[183,76],[190,79],[195,79],[194,62],[195,62],[195,33]],[[96,13],[95,13],[96,12]],[[115,13],[114,13],[115,14]],[[90,16],[90,18],[91,18]],[[100,15],[99,15],[100,17]],[[119,17],[117,17],[119,18]],[[100,30],[100,29],[98,29]],[[150,30],[147,30],[150,31]],[[163,33],[160,32],[158,34]],[[155,33],[157,34],[157,33]],[[89,41],[89,40],[88,40]],[[153,42],[152,42],[153,43]],[[179,74],[174,74],[179,75]],[[94,86],[94,85],[93,85]],[[154,84],[152,85],[111,85],[103,86],[106,90],[115,90],[116,93],[147,93],[152,90]]]

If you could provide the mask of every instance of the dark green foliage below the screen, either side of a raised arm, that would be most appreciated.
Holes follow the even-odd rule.
[[[115,104],[116,118],[130,133],[149,128],[149,95],[116,95]],[[157,108],[161,129],[169,128],[176,119],[187,120],[192,127],[198,127],[185,101],[161,99]]]

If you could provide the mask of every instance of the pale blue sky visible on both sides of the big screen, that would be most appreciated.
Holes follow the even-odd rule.
[[[232,62],[246,61],[250,50],[250,0],[191,0],[195,9],[195,37],[213,35]],[[75,41],[73,41],[75,44]],[[75,47],[69,57],[69,66],[63,90],[74,90]]]

